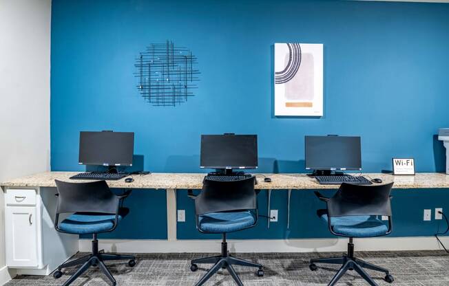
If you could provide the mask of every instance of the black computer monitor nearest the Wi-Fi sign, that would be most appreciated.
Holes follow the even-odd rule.
[[[362,170],[360,137],[306,136],[307,170]]]

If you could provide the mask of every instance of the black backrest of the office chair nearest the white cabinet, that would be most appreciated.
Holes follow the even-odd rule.
[[[58,190],[56,214],[66,212],[118,213],[119,198],[109,189],[106,181],[88,183],[55,181]]]

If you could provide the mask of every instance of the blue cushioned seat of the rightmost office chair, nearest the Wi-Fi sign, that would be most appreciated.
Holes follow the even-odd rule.
[[[322,214],[321,218],[327,223],[327,214]],[[384,222],[370,215],[333,217],[331,225],[335,233],[349,237],[382,236],[388,232]]]

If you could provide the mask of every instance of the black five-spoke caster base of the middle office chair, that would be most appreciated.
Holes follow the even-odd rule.
[[[214,263],[214,265],[207,271],[205,276],[202,276],[200,281],[196,283],[196,286],[203,285],[206,283],[206,281],[213,276],[220,268],[226,268],[231,274],[234,281],[236,281],[237,285],[243,286],[242,281],[240,281],[240,278],[238,277],[236,270],[232,267],[232,265],[240,265],[240,266],[248,266],[248,267],[256,267],[258,268],[256,274],[259,277],[264,276],[264,270],[262,270],[262,265],[258,263],[253,263],[251,261],[246,261],[243,259],[238,259],[236,257],[231,256],[229,254],[228,248],[227,248],[227,242],[226,242],[226,234],[223,234],[223,240],[221,243],[221,255],[218,256],[211,256],[211,257],[204,257],[201,259],[194,259],[191,261],[190,270],[193,272],[196,272],[198,270],[198,265],[200,263]]]

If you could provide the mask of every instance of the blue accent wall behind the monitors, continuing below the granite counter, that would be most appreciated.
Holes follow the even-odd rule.
[[[414,157],[418,172],[444,170],[435,134],[449,126],[448,15],[449,4],[439,3],[54,0],[52,170],[84,170],[77,164],[79,131],[99,130],[134,131],[135,153],[154,172],[201,172],[200,134],[229,132],[258,134],[260,172],[304,172],[304,135],[325,134],[362,136],[366,172],[390,169],[391,157]],[[134,60],[149,43],[167,39],[198,56],[200,86],[185,104],[152,107],[136,89]],[[322,118],[273,115],[276,42],[324,44]],[[395,197],[394,235],[408,236],[433,234],[422,209],[444,208],[449,195],[397,190]],[[317,225],[320,202],[310,191],[294,192],[291,230],[282,226],[284,202],[286,191],[273,192],[281,223],[268,232],[261,219],[236,235],[328,235]],[[146,208],[165,206],[165,192],[135,192],[127,203],[145,217]],[[193,204],[184,195],[178,203],[187,210],[178,236],[200,237],[189,220]],[[108,235],[166,237],[164,223],[152,229],[156,234],[141,223]]]

